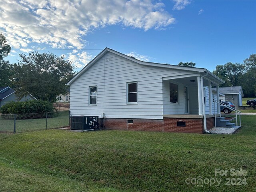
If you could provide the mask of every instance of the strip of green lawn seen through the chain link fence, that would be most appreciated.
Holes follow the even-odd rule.
[[[4,116],[4,115],[2,115]],[[0,132],[13,132],[14,120],[0,118]],[[58,112],[58,116],[47,119],[47,128],[55,128],[61,126],[68,126],[69,124],[69,112]],[[46,118],[40,119],[22,119],[16,120],[16,132],[26,132],[32,130],[46,129]]]

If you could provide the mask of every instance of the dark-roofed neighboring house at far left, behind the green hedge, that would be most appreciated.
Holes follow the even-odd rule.
[[[18,100],[15,95],[15,91],[10,87],[1,87],[0,88],[0,107],[6,104],[9,101],[26,101],[26,100],[36,100],[32,95],[24,96],[22,99]]]

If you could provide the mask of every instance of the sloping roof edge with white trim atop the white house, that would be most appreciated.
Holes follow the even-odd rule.
[[[220,79],[219,77],[217,77],[216,75],[214,75],[212,72],[208,71],[205,68],[185,67],[185,66],[178,66],[178,65],[171,65],[171,64],[145,62],[145,61],[138,60],[134,57],[127,56],[125,54],[122,54],[120,52],[117,52],[113,49],[106,47],[104,50],[102,50],[102,52],[100,52],[100,54],[98,54],[92,61],[90,61],[84,68],[82,68],[82,70],[80,70],[80,72],[78,72],[66,85],[72,84],[72,82],[74,82],[74,80],[76,80],[80,75],[82,75],[88,68],[90,68],[90,66],[92,66],[95,62],[97,62],[102,56],[104,56],[104,54],[106,52],[112,52],[112,53],[119,55],[123,58],[126,58],[128,60],[131,60],[138,64],[146,65],[146,66],[156,66],[156,67],[163,67],[163,68],[186,70],[186,71],[193,71],[193,72],[198,72],[198,73],[207,72],[210,76],[212,76],[214,79],[216,79],[220,84],[224,83],[224,81],[222,79]]]

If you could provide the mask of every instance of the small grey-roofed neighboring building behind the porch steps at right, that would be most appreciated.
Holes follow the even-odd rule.
[[[215,89],[216,90],[216,89]],[[220,87],[220,101],[232,102],[235,106],[242,106],[244,92],[242,86]]]

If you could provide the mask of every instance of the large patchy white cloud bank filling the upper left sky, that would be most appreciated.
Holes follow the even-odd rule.
[[[81,49],[95,28],[118,24],[147,31],[175,23],[163,3],[140,0],[2,0],[0,15],[0,30],[12,47],[38,43]]]

